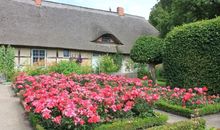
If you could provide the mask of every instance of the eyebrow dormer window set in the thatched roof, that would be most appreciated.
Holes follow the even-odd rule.
[[[112,34],[104,34],[94,40],[93,42],[100,44],[122,44],[115,36]]]

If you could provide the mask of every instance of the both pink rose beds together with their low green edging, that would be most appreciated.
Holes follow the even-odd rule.
[[[198,112],[191,118],[220,112],[220,97],[206,95],[206,87],[171,89],[152,86],[152,82],[147,76],[21,73],[14,91],[19,92],[33,126],[42,130],[157,129],[155,126],[165,125],[168,117],[154,112],[155,107],[184,116]],[[202,119],[192,120],[190,128],[195,127],[194,121],[201,122],[195,129],[205,128]]]

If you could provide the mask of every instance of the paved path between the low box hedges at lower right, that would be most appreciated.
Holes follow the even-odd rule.
[[[174,123],[174,122],[189,119],[189,118],[186,118],[186,117],[174,115],[174,114],[167,113],[167,112],[160,111],[160,110],[155,110],[155,111],[163,113],[163,114],[167,114],[168,117],[169,117],[169,119],[167,121],[168,123]],[[206,120],[206,125],[207,125],[208,128],[212,128],[212,127],[220,128],[220,113],[203,116],[202,118]]]

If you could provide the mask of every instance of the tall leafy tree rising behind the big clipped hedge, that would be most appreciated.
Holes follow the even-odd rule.
[[[150,23],[161,37],[175,26],[220,15],[220,0],[160,0],[152,9]]]

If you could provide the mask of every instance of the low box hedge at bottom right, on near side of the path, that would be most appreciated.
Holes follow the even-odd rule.
[[[205,130],[205,120],[202,118],[195,118],[187,121],[179,121],[173,124],[166,124],[149,128],[148,130]]]

